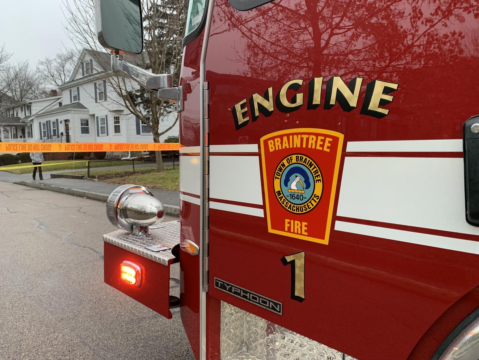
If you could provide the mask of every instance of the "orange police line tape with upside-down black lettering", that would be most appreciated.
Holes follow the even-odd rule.
[[[0,143],[0,153],[180,150],[179,143]]]

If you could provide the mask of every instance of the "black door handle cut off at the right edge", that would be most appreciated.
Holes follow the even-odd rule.
[[[466,221],[479,226],[479,115],[462,127]]]

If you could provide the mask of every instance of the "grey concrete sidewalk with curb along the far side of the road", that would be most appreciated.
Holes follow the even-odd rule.
[[[78,171],[70,170],[70,171]],[[120,185],[123,184],[108,184],[106,182],[94,180],[79,180],[79,179],[50,179],[53,173],[69,172],[68,170],[48,171],[43,173],[44,180],[32,180],[32,174],[11,174],[6,171],[0,171],[0,181],[11,182],[19,185],[29,186],[37,189],[49,190],[54,192],[61,192],[69,195],[76,195],[86,197],[87,199],[94,199],[104,201],[108,196]],[[168,215],[179,216],[180,214],[180,193],[175,191],[149,189],[157,199],[159,199],[166,207]]]

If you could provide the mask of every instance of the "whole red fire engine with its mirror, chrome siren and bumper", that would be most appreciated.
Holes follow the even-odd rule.
[[[196,359],[479,358],[477,0],[190,0],[178,87],[122,60],[139,0],[96,7],[181,121],[180,222],[119,188],[106,283]]]

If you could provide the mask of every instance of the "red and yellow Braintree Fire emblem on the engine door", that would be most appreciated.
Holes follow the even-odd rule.
[[[343,135],[292,129],[261,138],[268,231],[327,244]]]

